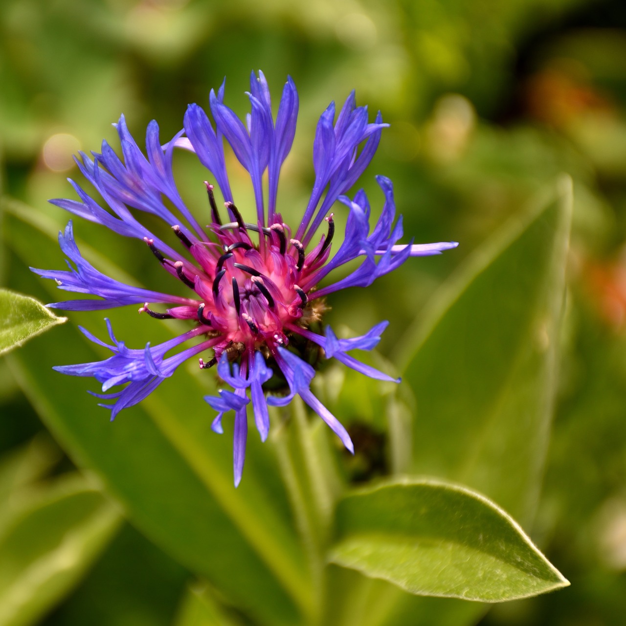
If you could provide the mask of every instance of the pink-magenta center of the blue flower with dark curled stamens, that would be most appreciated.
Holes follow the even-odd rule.
[[[236,207],[233,207],[236,211]],[[295,239],[289,239],[289,228],[275,215],[269,228],[244,223],[237,213],[237,222],[220,225],[213,223],[218,243],[191,242],[173,229],[185,243],[197,265],[191,262],[165,259],[155,252],[151,240],[146,240],[165,268],[182,280],[198,295],[188,305],[168,309],[167,317],[196,319],[214,336],[215,358],[202,367],[210,367],[227,350],[232,358],[253,354],[265,348],[275,355],[278,346],[288,343],[285,326],[297,324],[307,327],[316,319],[323,305],[312,307],[300,284],[310,291],[316,284],[316,270],[329,255],[332,239],[332,215],[329,236],[308,255]],[[250,239],[249,231],[259,233],[259,244]],[[197,302],[197,304],[196,304]],[[155,317],[165,317],[148,309]]]

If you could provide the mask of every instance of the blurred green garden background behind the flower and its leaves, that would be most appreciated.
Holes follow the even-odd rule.
[[[394,181],[406,235],[414,235],[417,242],[461,242],[458,250],[442,257],[409,261],[371,289],[334,297],[328,317],[334,326],[364,331],[379,319],[391,321],[381,343],[387,357],[466,255],[559,173],[572,176],[573,233],[556,414],[538,514],[532,528],[526,527],[572,586],[498,605],[481,623],[622,623],[623,2],[2,0],[0,178],[6,202],[36,208],[56,231],[67,217],[46,201],[71,197],[65,178],[80,177],[71,153],[100,151],[103,137],[116,146],[110,123],[120,113],[140,145],[152,118],[166,141],[182,127],[187,104],[207,105],[208,91],[224,76],[227,103],[244,113],[249,74],[259,68],[275,101],[287,74],[300,95],[296,140],[281,183],[284,213],[298,215],[310,190],[317,118],[329,101],[342,103],[354,88],[357,103],[367,104],[372,116],[381,110],[391,124],[361,182],[374,206],[381,198],[373,177],[382,173]],[[202,173],[184,157],[178,168],[183,198],[193,210],[205,210]],[[246,209],[245,202],[237,203]],[[11,242],[21,236],[12,228],[5,220],[9,245],[1,265],[3,284],[48,302],[51,296],[41,282],[28,277],[23,262],[11,252]],[[120,245],[115,236],[87,223],[75,223],[75,229],[129,274],[145,275],[150,282],[150,259],[138,260],[130,243]],[[60,252],[56,260],[54,267],[61,268]],[[54,261],[44,259],[33,245],[28,263],[51,267]],[[391,301],[393,307],[387,304]],[[70,324],[80,321],[102,334],[102,315],[69,317]],[[123,327],[123,322],[116,324]],[[51,331],[56,332],[64,329]],[[146,330],[137,341],[141,345],[150,340],[156,341]],[[38,341],[32,342],[34,354]],[[59,354],[58,362],[67,358]],[[82,382],[72,382],[73,393],[83,394]],[[72,464],[46,434],[32,406],[36,403],[26,399],[4,359],[0,403],[4,532],[3,524],[9,523],[4,517],[13,510],[23,515]],[[105,412],[96,409],[85,419],[105,419]],[[120,419],[131,417],[122,414]],[[7,476],[13,476],[10,485]],[[166,625],[193,610],[181,600],[190,580],[187,570],[133,526],[120,523],[110,522],[106,532],[113,538],[102,539],[105,547],[94,550],[93,562],[85,563],[84,572],[68,582],[66,592],[58,594],[56,605],[37,623]],[[20,619],[2,623],[34,623]]]

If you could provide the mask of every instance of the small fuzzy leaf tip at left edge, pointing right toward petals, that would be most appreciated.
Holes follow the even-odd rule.
[[[0,289],[0,354],[66,320],[28,295]]]

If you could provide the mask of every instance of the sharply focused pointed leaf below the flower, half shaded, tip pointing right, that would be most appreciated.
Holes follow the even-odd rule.
[[[569,584],[495,503],[429,479],[344,498],[330,560],[418,595],[483,602]]]

